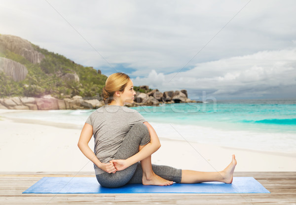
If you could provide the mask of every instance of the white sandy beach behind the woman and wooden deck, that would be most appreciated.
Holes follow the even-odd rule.
[[[0,114],[10,110],[0,110]],[[11,110],[12,111],[12,110]],[[15,110],[13,110],[15,111]],[[0,115],[1,116],[1,115]],[[151,123],[157,129],[157,124]],[[93,164],[77,147],[80,128],[34,120],[0,117],[0,171],[93,171]],[[156,132],[158,132],[156,130]],[[235,171],[296,171],[295,154],[172,140],[158,132],[162,146],[152,163],[198,171],[222,170],[235,154]],[[89,143],[93,149],[93,139]]]

